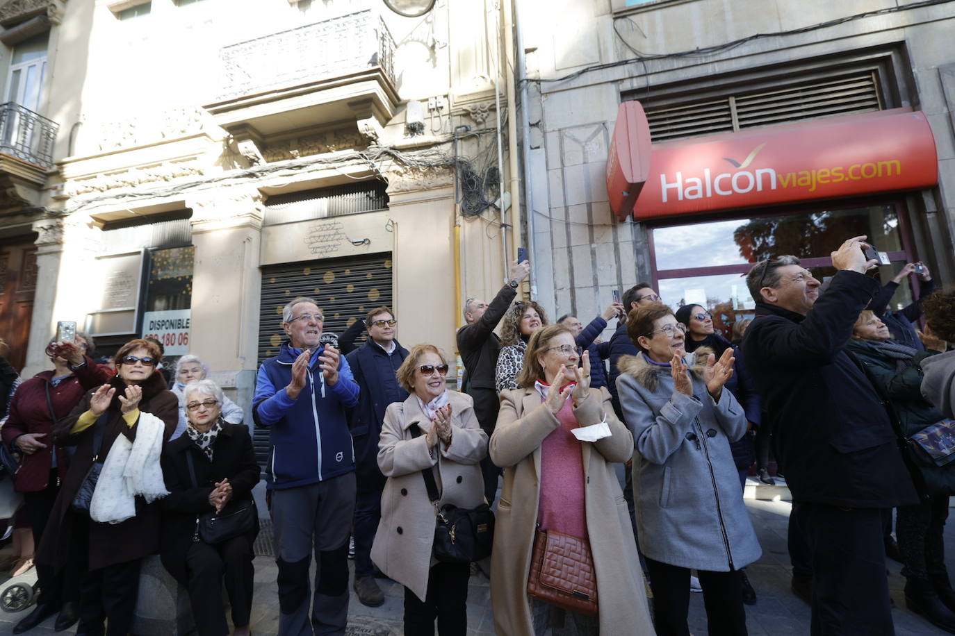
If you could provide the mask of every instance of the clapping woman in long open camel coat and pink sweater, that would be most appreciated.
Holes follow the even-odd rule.
[[[578,362],[583,361],[579,367]],[[614,415],[606,389],[592,389],[590,361],[562,324],[527,344],[520,389],[500,394],[491,459],[504,468],[491,555],[491,603],[499,634],[542,634],[567,625],[580,634],[653,634],[643,573],[614,462],[633,455],[633,437]],[[577,428],[605,422],[609,435],[578,441]],[[527,594],[536,528],[590,544],[598,616],[587,617]]]

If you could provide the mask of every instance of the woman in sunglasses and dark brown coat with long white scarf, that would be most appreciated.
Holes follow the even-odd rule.
[[[106,620],[109,636],[130,632],[139,562],[159,550],[156,500],[167,494],[159,454],[179,419],[179,400],[156,373],[159,347],[130,340],[116,359],[117,375],[53,424],[53,443],[75,450],[37,554],[41,563],[59,567],[79,551],[86,574],[77,631],[102,634]],[[93,501],[89,511],[78,511],[74,499],[94,462],[102,467]]]

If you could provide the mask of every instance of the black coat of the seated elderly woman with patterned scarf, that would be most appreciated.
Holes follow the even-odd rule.
[[[261,471],[255,461],[248,428],[245,424],[220,423],[223,430],[213,442],[212,462],[185,434],[170,441],[162,451],[162,476],[169,496],[161,500],[160,558],[169,573],[182,585],[188,583],[185,555],[196,531],[196,518],[215,510],[209,503],[209,493],[216,482],[228,478],[232,484],[232,501],[238,502],[250,496],[252,488],[260,479]],[[189,475],[186,453],[192,455],[198,487],[193,486]],[[248,534],[250,544],[255,541],[257,534],[258,530]]]

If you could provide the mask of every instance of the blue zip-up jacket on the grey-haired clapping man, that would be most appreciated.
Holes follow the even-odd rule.
[[[265,476],[269,488],[322,482],[354,470],[354,450],[345,408],[358,403],[358,384],[342,356],[338,381],[325,383],[318,360],[309,360],[306,385],[298,399],[286,393],[292,363],[302,350],[284,343],[279,355],[263,361],[256,379],[252,414],[271,428]]]

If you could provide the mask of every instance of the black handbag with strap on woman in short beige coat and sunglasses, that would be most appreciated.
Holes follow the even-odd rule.
[[[421,435],[421,429],[412,425],[412,437]],[[452,503],[438,505],[435,473],[431,468],[421,471],[428,499],[435,506],[435,559],[446,564],[470,564],[491,556],[494,545],[494,513],[487,503],[476,508],[458,508]]]

